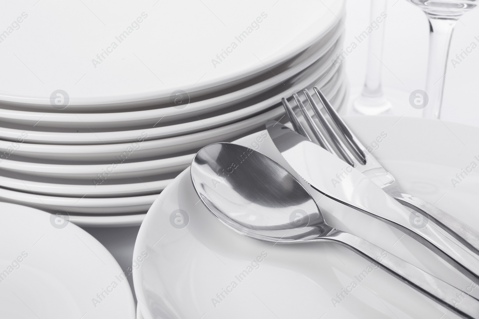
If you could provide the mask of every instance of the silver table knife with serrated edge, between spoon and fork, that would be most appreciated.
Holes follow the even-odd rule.
[[[269,121],[266,128],[278,151],[311,187],[405,232],[479,283],[476,254],[441,227],[430,220],[423,228],[418,228],[411,222],[411,210],[339,157],[281,123]]]

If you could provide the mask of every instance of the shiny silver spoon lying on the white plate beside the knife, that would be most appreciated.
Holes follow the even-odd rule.
[[[479,300],[382,248],[329,226],[308,190],[271,158],[231,143],[201,149],[191,164],[205,206],[241,235],[265,242],[336,242],[376,262],[463,318],[479,318]]]

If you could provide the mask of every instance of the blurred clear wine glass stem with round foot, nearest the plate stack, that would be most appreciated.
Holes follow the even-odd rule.
[[[378,17],[385,17],[387,0],[371,0],[370,20],[377,21]],[[354,110],[365,115],[384,114],[391,109],[391,103],[384,96],[381,87],[382,55],[384,42],[383,21],[377,30],[368,37],[369,47],[367,54],[366,78],[363,90],[354,100]]]

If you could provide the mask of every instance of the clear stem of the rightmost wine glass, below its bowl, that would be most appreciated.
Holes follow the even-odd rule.
[[[441,114],[447,56],[456,19],[429,16],[429,60],[427,65],[426,93],[429,103],[422,110],[424,118],[438,118]]]

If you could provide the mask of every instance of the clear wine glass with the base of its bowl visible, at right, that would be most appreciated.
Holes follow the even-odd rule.
[[[429,60],[426,93],[429,103],[422,117],[440,118],[446,74],[447,56],[452,32],[464,12],[476,7],[476,0],[408,0],[419,6],[429,19]]]

